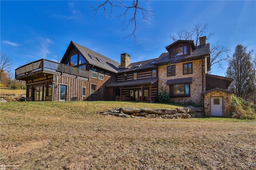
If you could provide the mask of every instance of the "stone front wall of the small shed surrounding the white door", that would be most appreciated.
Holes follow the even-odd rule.
[[[211,97],[223,97],[223,115],[230,117],[231,115],[231,95],[222,91],[212,91],[204,95],[204,115],[211,115]]]

